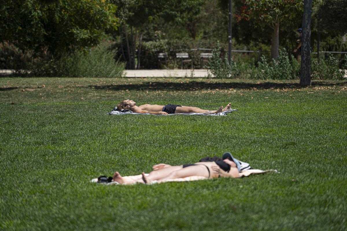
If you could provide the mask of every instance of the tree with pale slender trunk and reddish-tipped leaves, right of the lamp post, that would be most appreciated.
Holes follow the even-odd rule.
[[[252,20],[259,27],[270,27],[271,59],[278,59],[279,27],[302,12],[303,0],[243,0],[243,6],[236,14],[238,20]]]

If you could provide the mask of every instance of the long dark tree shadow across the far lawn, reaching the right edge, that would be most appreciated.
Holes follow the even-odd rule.
[[[329,86],[342,86],[346,85],[347,81],[343,82],[312,82],[313,87],[329,87]],[[94,89],[109,89],[109,90],[201,90],[201,89],[277,89],[277,88],[300,88],[299,83],[245,83],[245,82],[232,82],[232,83],[208,83],[191,81],[188,83],[177,82],[144,82],[137,84],[123,84],[123,85],[89,85]]]

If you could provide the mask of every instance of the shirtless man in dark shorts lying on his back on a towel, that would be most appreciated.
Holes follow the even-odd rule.
[[[221,106],[216,111],[210,111],[201,109],[198,107],[188,107],[181,106],[176,104],[167,104],[167,105],[157,105],[157,104],[143,104],[141,106],[136,106],[134,100],[125,99],[117,105],[117,109],[129,109],[136,113],[150,113],[156,115],[168,115],[175,113],[206,113],[206,114],[217,114],[223,111],[228,111],[230,109],[230,103],[223,109]]]

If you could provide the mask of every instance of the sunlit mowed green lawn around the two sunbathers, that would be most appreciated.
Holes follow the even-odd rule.
[[[228,116],[111,116],[122,99]],[[347,81],[0,78],[0,230],[346,230]],[[230,151],[280,173],[88,181]]]

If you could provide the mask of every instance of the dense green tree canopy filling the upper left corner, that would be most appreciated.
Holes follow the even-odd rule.
[[[0,42],[59,55],[98,44],[116,29],[116,6],[106,0],[8,0],[0,6]]]

